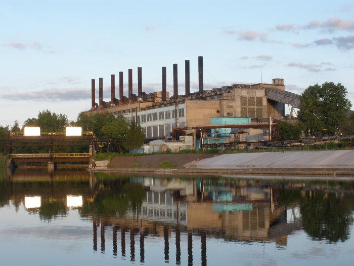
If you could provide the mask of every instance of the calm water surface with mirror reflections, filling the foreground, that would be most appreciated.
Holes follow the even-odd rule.
[[[1,265],[353,265],[354,182],[0,173]]]

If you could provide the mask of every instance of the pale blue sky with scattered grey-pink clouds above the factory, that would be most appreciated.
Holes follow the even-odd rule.
[[[234,83],[271,83],[286,90],[342,83],[354,104],[352,1],[27,1],[0,4],[0,125],[23,124],[41,110],[74,121],[91,108],[91,79],[143,67],[143,91],[161,91],[167,67],[190,60],[191,91],[198,90],[198,56],[204,89]],[[98,90],[96,90],[98,99]],[[351,108],[353,109],[353,107]]]

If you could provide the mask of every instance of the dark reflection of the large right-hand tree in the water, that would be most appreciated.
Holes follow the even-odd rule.
[[[354,197],[322,191],[307,192],[300,198],[303,230],[311,237],[344,242],[353,222]]]

